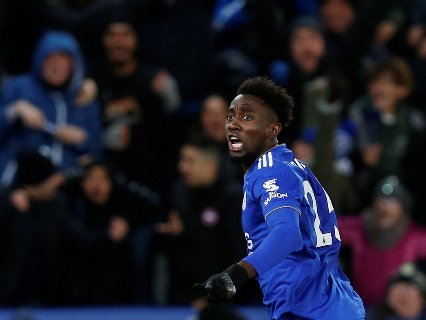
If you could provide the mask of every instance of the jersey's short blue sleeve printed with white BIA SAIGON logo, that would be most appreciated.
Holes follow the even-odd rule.
[[[295,210],[299,217],[302,216],[300,211],[304,195],[302,178],[292,169],[288,166],[268,167],[252,175],[253,198],[259,201],[267,222],[268,217],[278,209]]]

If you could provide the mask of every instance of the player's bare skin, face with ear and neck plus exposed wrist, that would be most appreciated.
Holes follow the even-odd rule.
[[[256,159],[278,144],[281,129],[275,112],[262,99],[248,94],[233,99],[226,116],[225,133],[230,155],[242,163],[244,173]],[[249,278],[257,276],[250,263],[240,261],[238,264]]]

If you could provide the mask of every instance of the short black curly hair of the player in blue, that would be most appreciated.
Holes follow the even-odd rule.
[[[283,127],[288,127],[293,120],[293,98],[266,76],[245,80],[238,88],[237,96],[239,94],[250,94],[262,99],[275,112]]]

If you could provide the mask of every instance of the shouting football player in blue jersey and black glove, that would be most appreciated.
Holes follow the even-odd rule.
[[[194,288],[207,291],[210,302],[228,302],[256,277],[271,319],[361,320],[363,303],[337,260],[340,233],[331,200],[311,170],[278,145],[292,108],[285,89],[265,77],[239,87],[225,131],[230,155],[245,172],[248,256]]]

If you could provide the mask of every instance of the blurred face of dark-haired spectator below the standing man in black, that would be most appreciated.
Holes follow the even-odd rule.
[[[104,166],[93,166],[81,186],[86,198],[98,206],[107,203],[112,191],[112,182]]]

